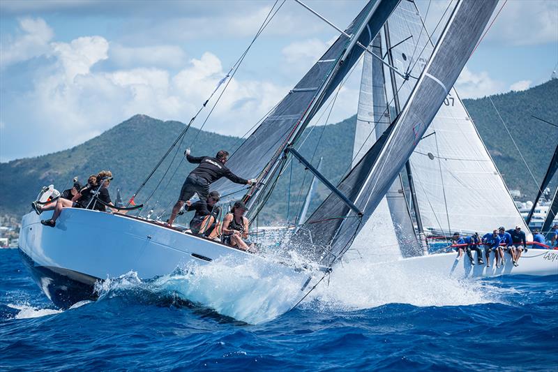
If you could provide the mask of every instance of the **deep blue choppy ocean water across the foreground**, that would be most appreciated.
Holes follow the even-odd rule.
[[[2,370],[558,369],[558,276],[353,267],[294,311],[248,325],[190,304],[179,276],[167,290],[124,278],[59,311],[26,270],[17,250],[0,250]]]

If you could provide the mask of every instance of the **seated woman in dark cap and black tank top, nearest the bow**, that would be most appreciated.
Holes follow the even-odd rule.
[[[246,211],[248,208],[242,200],[234,202],[230,213],[223,220],[223,243],[256,253],[255,244],[248,240],[248,218],[244,216]]]

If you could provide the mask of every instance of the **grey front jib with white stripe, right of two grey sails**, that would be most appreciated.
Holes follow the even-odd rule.
[[[401,114],[338,186],[363,216],[329,195],[295,235],[294,244],[304,247],[311,258],[331,265],[350,247],[435,117],[496,4],[497,0],[462,0],[455,6]]]

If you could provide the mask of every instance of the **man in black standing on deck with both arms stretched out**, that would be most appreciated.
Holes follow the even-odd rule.
[[[186,181],[182,185],[179,200],[174,204],[167,223],[169,227],[172,226],[176,215],[187,200],[190,200],[196,193],[200,200],[206,200],[209,195],[209,185],[221,177],[227,177],[235,184],[252,185],[256,182],[255,179],[240,178],[233,174],[229,168],[225,167],[225,163],[227,163],[229,158],[229,153],[225,150],[220,150],[215,158],[209,156],[190,156],[190,149],[186,149],[184,155],[186,155],[188,162],[199,165],[188,174]]]

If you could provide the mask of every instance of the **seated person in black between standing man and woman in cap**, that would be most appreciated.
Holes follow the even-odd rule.
[[[218,191],[211,191],[205,200],[197,200],[186,204],[186,211],[196,211],[194,217],[190,221],[190,230],[194,234],[202,234],[211,239],[216,239],[218,234],[218,217],[221,214],[221,208],[216,206],[220,195]]]

